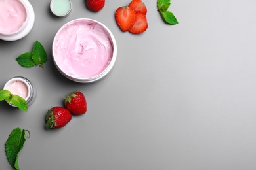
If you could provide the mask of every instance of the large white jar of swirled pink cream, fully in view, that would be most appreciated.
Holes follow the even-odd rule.
[[[77,19],[60,28],[53,41],[53,59],[59,71],[76,82],[94,82],[105,76],[116,60],[116,41],[100,22]]]

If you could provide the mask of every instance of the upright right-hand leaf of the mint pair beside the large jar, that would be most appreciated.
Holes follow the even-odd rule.
[[[35,65],[40,67],[43,67],[43,64],[47,61],[47,53],[39,41],[35,41],[33,45],[32,58]]]

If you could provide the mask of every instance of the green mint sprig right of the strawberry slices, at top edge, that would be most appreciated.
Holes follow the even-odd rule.
[[[168,10],[171,5],[171,0],[158,0],[158,12],[167,24],[178,24],[174,14]]]

